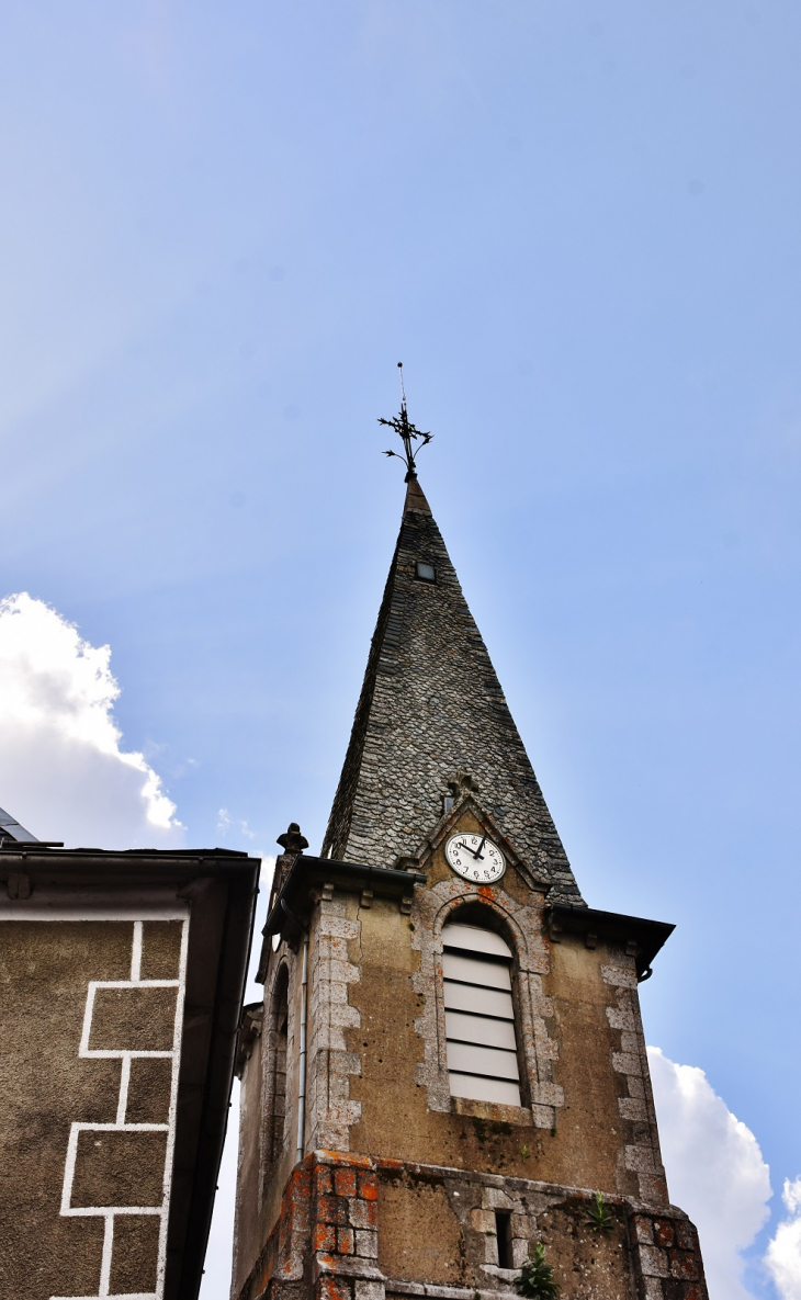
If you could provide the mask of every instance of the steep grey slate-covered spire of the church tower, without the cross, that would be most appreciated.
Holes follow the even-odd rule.
[[[581,902],[481,633],[417,476],[398,545],[322,855],[391,867],[416,853],[462,770],[551,897]]]

